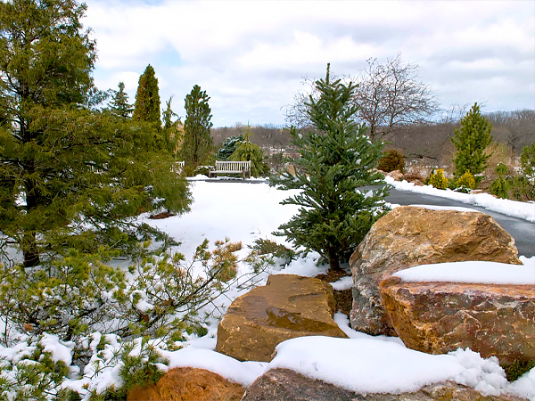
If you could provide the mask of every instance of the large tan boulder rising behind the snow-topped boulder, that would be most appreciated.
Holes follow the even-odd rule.
[[[379,283],[417,265],[486,260],[521,265],[514,238],[479,212],[401,206],[375,222],[350,258],[353,274],[351,327],[395,336],[384,313]]]

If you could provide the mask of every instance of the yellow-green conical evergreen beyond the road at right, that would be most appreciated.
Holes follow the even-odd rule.
[[[487,168],[490,155],[485,154],[485,148],[492,142],[491,130],[489,119],[481,116],[479,105],[474,103],[472,109],[461,119],[461,127],[456,128],[455,135],[451,138],[457,149],[453,160],[455,176],[462,176],[466,171],[476,176]]]

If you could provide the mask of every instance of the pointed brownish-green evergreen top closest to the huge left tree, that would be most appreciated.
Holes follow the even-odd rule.
[[[160,104],[158,78],[156,78],[152,65],[149,64],[139,77],[132,118],[152,123],[154,127],[160,129]]]

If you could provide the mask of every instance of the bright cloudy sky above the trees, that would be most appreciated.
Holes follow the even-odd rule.
[[[124,81],[134,102],[147,64],[162,107],[185,117],[193,85],[214,127],[284,124],[284,106],[321,78],[356,77],[398,53],[444,108],[535,110],[535,1],[86,0],[96,85]]]

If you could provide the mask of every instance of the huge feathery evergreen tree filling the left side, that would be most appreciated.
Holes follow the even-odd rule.
[[[142,234],[132,217],[191,202],[153,127],[91,105],[85,11],[75,0],[0,3],[0,245],[18,246],[24,266],[128,247]]]

